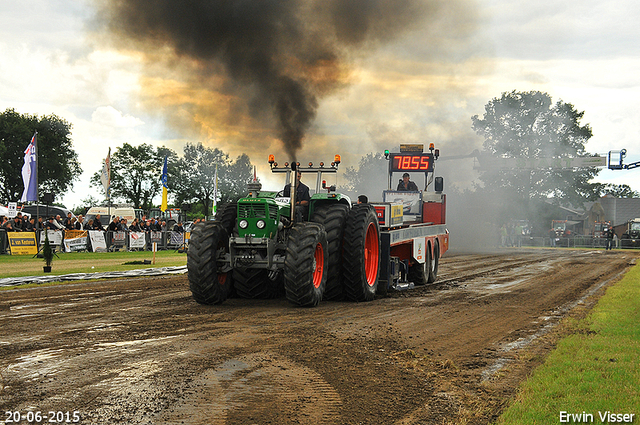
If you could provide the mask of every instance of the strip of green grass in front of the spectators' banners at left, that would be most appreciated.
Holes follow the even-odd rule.
[[[58,257],[53,257],[51,273],[44,273],[42,270],[42,258],[33,258],[33,255],[0,255],[0,278],[126,271],[187,264],[187,255],[174,250],[156,252],[155,264],[125,264],[153,261],[153,252],[150,251],[60,252],[57,255]]]

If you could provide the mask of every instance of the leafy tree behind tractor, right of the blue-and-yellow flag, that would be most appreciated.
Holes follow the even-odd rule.
[[[253,178],[251,161],[246,154],[234,162],[222,150],[207,148],[202,143],[187,143],[180,164],[177,203],[199,203],[205,215],[213,205],[216,166],[220,202],[237,201],[245,196],[246,183]]]

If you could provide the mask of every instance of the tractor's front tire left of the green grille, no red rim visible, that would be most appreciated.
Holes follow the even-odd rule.
[[[220,304],[229,296],[231,273],[220,273],[220,257],[229,252],[229,236],[218,223],[205,222],[191,232],[187,252],[189,289],[200,304]]]

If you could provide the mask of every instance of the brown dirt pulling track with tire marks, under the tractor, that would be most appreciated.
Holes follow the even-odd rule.
[[[201,306],[186,275],[2,291],[0,423],[488,424],[637,256],[450,252],[435,286],[315,309]]]

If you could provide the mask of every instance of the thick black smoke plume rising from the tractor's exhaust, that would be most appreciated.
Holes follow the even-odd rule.
[[[253,116],[268,111],[295,158],[319,99],[346,84],[349,62],[420,21],[435,0],[112,0],[100,20],[120,43],[195,61],[223,76]],[[193,78],[194,76],[191,76]]]

